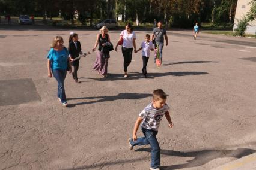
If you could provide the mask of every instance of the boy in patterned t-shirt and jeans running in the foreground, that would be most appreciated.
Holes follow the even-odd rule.
[[[158,89],[153,92],[153,102],[151,102],[144,110],[139,114],[136,120],[133,136],[129,138],[129,148],[133,149],[136,145],[148,145],[151,146],[151,170],[159,169],[160,166],[160,147],[156,138],[157,130],[162,120],[163,115],[169,122],[169,128],[172,128],[173,123],[169,114],[169,107],[166,104],[166,94],[163,90]],[[143,122],[142,122],[143,120]],[[141,124],[142,122],[142,124]],[[142,126],[142,132],[145,137],[137,138],[137,131],[139,125]]]

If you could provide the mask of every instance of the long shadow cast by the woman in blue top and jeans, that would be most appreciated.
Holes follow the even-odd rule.
[[[116,96],[93,96],[93,97],[82,97],[82,98],[67,98],[68,101],[78,99],[97,99],[97,101],[79,102],[76,104],[69,104],[68,107],[75,107],[76,105],[93,104],[98,102],[115,101],[121,99],[141,99],[152,96],[152,94],[145,93],[119,93]]]

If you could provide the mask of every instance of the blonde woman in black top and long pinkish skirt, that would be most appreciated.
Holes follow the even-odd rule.
[[[106,43],[110,42],[110,37],[108,35],[108,28],[103,26],[100,29],[100,34],[97,35],[95,45],[93,47],[93,52],[95,51],[97,45],[99,44],[99,48],[97,51],[97,58],[94,63],[93,69],[98,71],[103,78],[106,78],[108,75],[108,59],[109,55],[105,56],[102,52],[102,47],[105,46]]]

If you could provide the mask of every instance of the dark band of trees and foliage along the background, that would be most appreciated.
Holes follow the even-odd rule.
[[[91,24],[93,20],[106,19],[107,2],[111,18],[116,13],[124,16],[126,7],[126,21],[135,22],[138,14],[140,24],[147,25],[156,19],[168,21],[174,27],[190,28],[195,22],[209,22],[213,16],[216,23],[230,22],[230,11],[233,9],[233,19],[237,0],[0,0],[0,13],[41,17],[46,13],[47,17],[58,17],[61,11],[64,20],[73,21],[74,11],[78,11],[79,21],[85,23],[85,19],[90,19]]]

